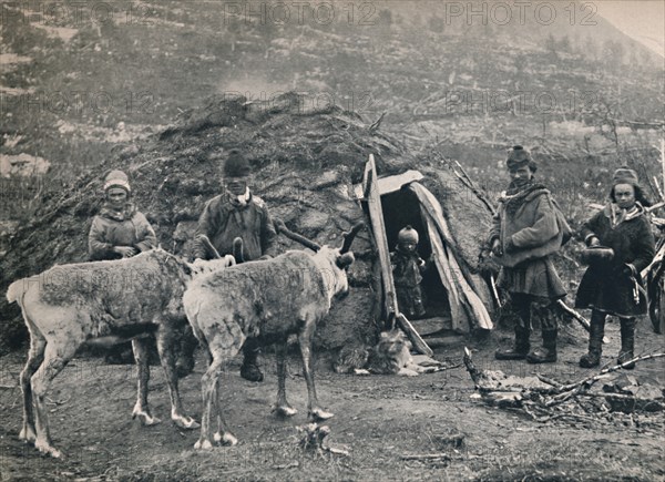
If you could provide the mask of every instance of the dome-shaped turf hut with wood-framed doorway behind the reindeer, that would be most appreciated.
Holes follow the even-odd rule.
[[[479,310],[491,307],[491,297],[479,274],[478,255],[491,222],[488,207],[449,166],[411,155],[352,112],[334,105],[306,109],[291,93],[266,102],[213,96],[153,139],[121,150],[105,167],[130,175],[134,202],[153,224],[162,247],[186,256],[198,214],[219,193],[221,166],[235,147],[249,160],[254,191],[272,214],[293,232],[331,245],[357,222],[370,226],[358,186],[372,154],[380,184],[392,183],[381,196],[390,249],[398,230],[411,224],[421,236],[421,257],[434,253],[444,258],[423,281],[428,312],[441,328],[470,331],[483,324]],[[408,171],[417,171],[418,181],[400,182]],[[54,264],[86,260],[88,232],[101,205],[104,174],[100,170],[82,176],[66,192],[44,197],[0,260],[2,289]],[[354,242],[351,291],[319,328],[319,348],[372,342],[377,334],[386,314],[375,235],[364,229]],[[278,243],[282,249],[303,248],[283,236]],[[0,310],[2,342],[16,346],[25,338],[19,310],[4,297]]]

